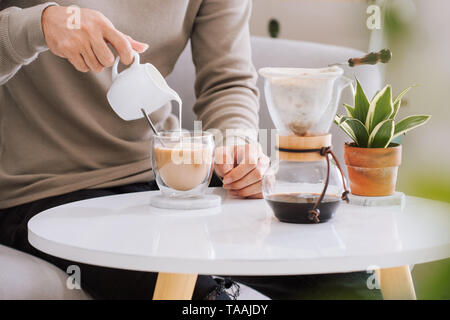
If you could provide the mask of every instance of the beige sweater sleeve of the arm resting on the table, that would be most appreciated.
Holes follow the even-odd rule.
[[[196,67],[194,112],[203,129],[232,131],[232,136],[253,140],[259,94],[251,60],[250,12],[251,0],[204,0],[191,44]]]

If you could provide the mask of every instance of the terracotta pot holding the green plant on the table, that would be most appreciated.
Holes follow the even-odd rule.
[[[358,148],[345,144],[344,158],[352,194],[370,197],[394,194],[402,146],[392,145],[389,148]]]

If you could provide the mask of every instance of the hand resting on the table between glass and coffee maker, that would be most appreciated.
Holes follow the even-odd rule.
[[[262,178],[269,157],[258,144],[219,147],[215,151],[215,171],[223,177],[223,187],[232,196],[262,198]]]

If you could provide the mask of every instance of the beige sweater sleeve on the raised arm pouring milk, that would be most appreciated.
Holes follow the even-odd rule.
[[[0,85],[48,49],[41,17],[51,5],[57,4],[47,2],[26,9],[9,7],[0,11]]]

